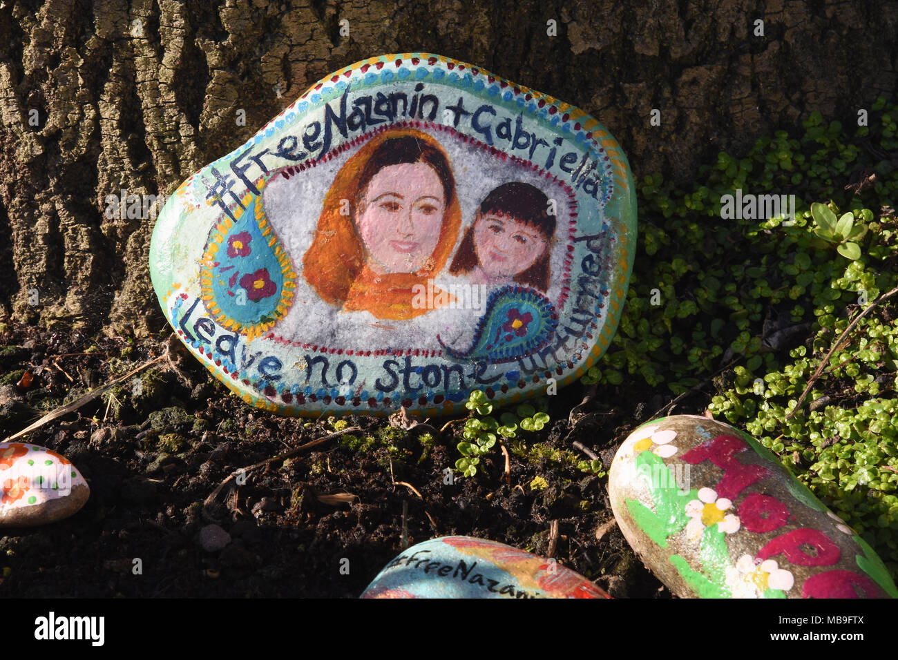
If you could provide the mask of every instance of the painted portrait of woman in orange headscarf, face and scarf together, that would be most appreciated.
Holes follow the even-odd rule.
[[[343,312],[414,318],[433,307],[413,305],[413,287],[445,268],[461,218],[452,167],[436,139],[411,128],[384,131],[334,177],[303,277]]]

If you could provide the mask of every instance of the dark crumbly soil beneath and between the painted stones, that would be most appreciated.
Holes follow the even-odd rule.
[[[495,448],[476,477],[455,472],[446,483],[446,468],[459,458],[452,428],[462,425],[436,433],[428,446],[420,441],[421,427],[405,431],[384,418],[348,417],[349,427],[362,429],[352,437],[330,438],[287,461],[246,471],[245,482],[225,486],[204,506],[234,471],[333,435],[334,420],[281,418],[251,408],[174,340],[7,330],[0,335],[0,437],[168,348],[174,368],[156,363],[110,388],[111,397],[103,394],[23,438],[63,453],[92,492],[65,521],[4,530],[0,593],[355,598],[409,545],[463,534],[545,556],[558,521],[553,556],[559,563],[614,596],[670,595],[610,522],[606,477],[545,456],[512,455],[506,483],[504,458]],[[526,443],[585,459],[572,450],[577,440],[607,468],[629,430],[656,408],[640,405],[637,412],[603,401],[635,406],[638,392],[599,392],[568,436],[568,415],[584,390],[577,383],[550,397],[552,421],[527,434]],[[664,404],[652,401],[651,392],[642,400]],[[430,424],[438,431],[446,421]],[[357,446],[367,436],[374,438],[367,449],[350,448],[353,438]],[[531,488],[537,476],[546,488]],[[334,494],[351,497],[326,497]],[[201,546],[199,532],[209,524],[230,533],[224,549]]]

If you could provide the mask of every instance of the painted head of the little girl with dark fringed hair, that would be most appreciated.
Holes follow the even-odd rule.
[[[522,284],[546,293],[555,216],[549,198],[529,183],[512,181],[480,203],[449,272],[475,284]]]

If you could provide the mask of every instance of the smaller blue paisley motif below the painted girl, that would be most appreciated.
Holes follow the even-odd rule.
[[[555,336],[558,314],[549,298],[531,288],[503,286],[489,295],[471,348],[456,350],[437,336],[447,356],[497,364],[545,348]]]

